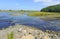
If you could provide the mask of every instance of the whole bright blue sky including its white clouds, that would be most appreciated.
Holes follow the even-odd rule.
[[[60,0],[0,0],[1,10],[41,10],[44,7],[60,4]]]

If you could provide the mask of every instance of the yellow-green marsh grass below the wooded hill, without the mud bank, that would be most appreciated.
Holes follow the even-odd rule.
[[[60,17],[60,13],[54,13],[54,12],[33,12],[33,13],[29,13],[28,16]]]

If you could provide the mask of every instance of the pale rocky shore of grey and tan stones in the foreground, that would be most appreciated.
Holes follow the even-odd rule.
[[[11,32],[13,32],[13,37],[9,38],[8,35]],[[15,25],[0,30],[0,39],[60,39],[60,35],[24,25]]]

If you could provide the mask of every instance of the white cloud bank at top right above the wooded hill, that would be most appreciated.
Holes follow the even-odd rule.
[[[56,4],[60,4],[59,0],[34,0],[34,2],[41,2],[43,3],[43,5],[56,5]]]

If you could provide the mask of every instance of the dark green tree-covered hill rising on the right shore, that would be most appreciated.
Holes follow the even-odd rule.
[[[60,4],[43,8],[41,12],[60,12]]]

